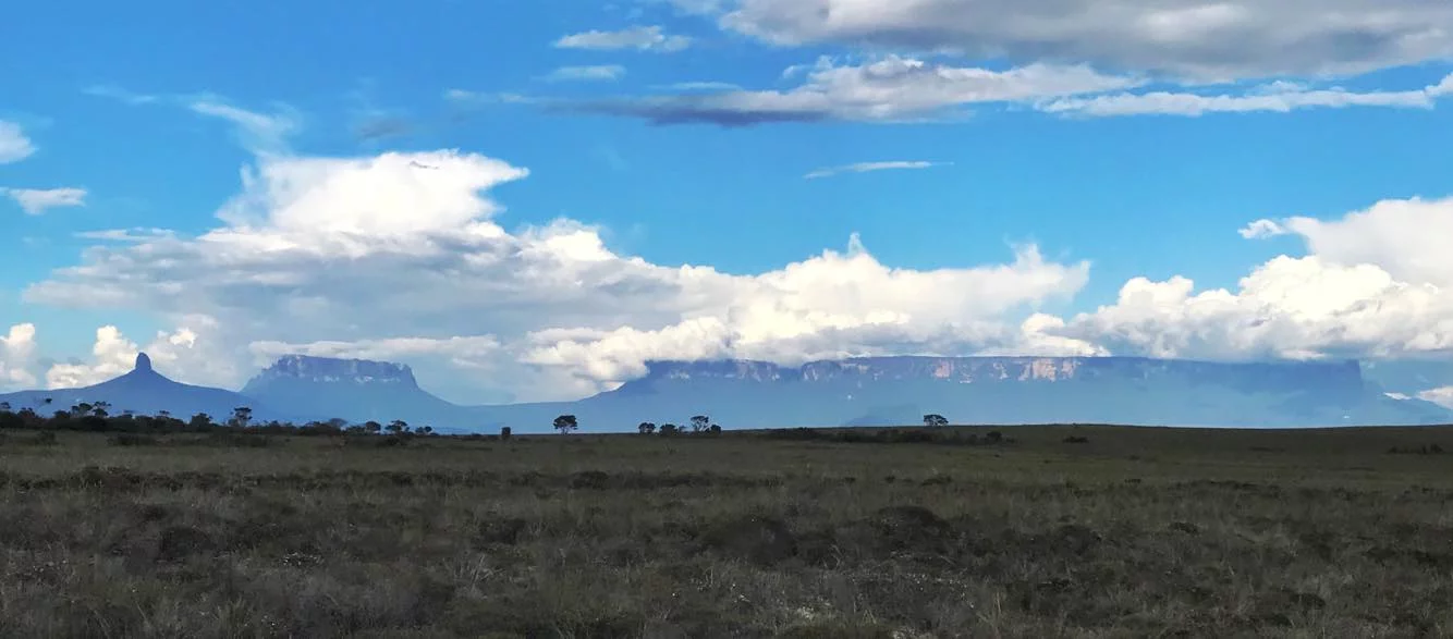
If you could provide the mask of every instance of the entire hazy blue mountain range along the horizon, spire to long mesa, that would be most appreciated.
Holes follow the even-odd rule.
[[[49,407],[44,401],[49,398]],[[62,391],[0,395],[38,411],[105,401],[112,412],[250,407],[259,420],[404,420],[440,431],[546,431],[555,415],[584,430],[711,415],[726,428],[905,426],[924,414],[962,424],[1106,423],[1199,427],[1417,426],[1453,411],[1393,398],[1357,362],[1212,363],[1142,357],[865,357],[799,367],[764,362],[652,362],[623,386],[570,402],[458,405],[418,388],[405,365],[286,356],[243,391],[189,386],[151,369]]]

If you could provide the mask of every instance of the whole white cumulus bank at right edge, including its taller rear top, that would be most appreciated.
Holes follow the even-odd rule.
[[[1447,357],[1453,354],[1453,199],[1386,200],[1335,221],[1261,221],[1247,237],[1296,234],[1238,289],[1133,279],[1119,301],[1052,334],[1161,357]]]

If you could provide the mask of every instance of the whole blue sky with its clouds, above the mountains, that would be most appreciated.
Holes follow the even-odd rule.
[[[7,343],[0,372],[10,385],[80,383],[157,344],[160,369],[237,386],[278,351],[304,350],[407,360],[466,401],[580,395],[668,356],[1449,357],[1453,263],[1399,247],[1453,232],[1441,200],[1453,158],[1440,151],[1453,142],[1441,105],[1453,10],[1399,0],[1373,15],[1337,0],[1348,17],[1334,23],[1302,1],[1175,0],[1136,15],[1072,1],[1080,13],[1055,23],[1036,13],[1045,3],[905,4],[12,7],[0,328],[33,337]],[[430,155],[446,150],[458,154]],[[368,164],[386,154],[417,161]],[[472,157],[527,176],[475,180]],[[344,168],[299,168],[317,158],[365,163],[365,182],[398,189],[327,200],[320,184]],[[426,168],[410,167],[427,158],[450,179],[420,186]],[[282,224],[308,189],[321,193],[299,196],[311,222]],[[475,195],[503,211],[465,219],[443,205],[475,206]],[[251,222],[219,219],[234,198],[257,200]],[[401,235],[357,227],[359,211],[416,216],[408,241],[434,244],[400,248]],[[599,238],[610,260],[558,248],[554,266],[471,270],[490,250],[439,244],[471,219],[519,254],[561,235]],[[1260,219],[1270,237],[1238,232]],[[170,235],[116,241],[121,229]],[[195,241],[218,231],[238,247],[340,245],[222,260]],[[853,234],[872,264],[853,261]],[[1357,244],[1369,235],[1383,248]],[[1062,269],[1014,270],[1030,244]],[[571,270],[583,263],[588,276]],[[683,264],[715,279],[684,277]],[[536,269],[578,277],[471,283]],[[1292,283],[1241,283],[1279,269]],[[1117,304],[1138,277],[1170,298]],[[1175,277],[1194,289],[1177,296]],[[567,295],[607,285],[631,295]],[[1430,301],[1398,298],[1427,288]],[[657,289],[668,295],[645,293]],[[1205,311],[1215,296],[1196,295],[1215,289],[1235,311]],[[1359,315],[1359,304],[1404,315]],[[1032,315],[1064,325],[1029,331]],[[1237,321],[1250,328],[1216,328]],[[1393,321],[1424,330],[1363,334]],[[458,340],[472,340],[468,356]]]

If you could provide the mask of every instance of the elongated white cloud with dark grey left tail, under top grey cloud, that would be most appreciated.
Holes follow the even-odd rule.
[[[1141,86],[1133,77],[1106,76],[1087,65],[1030,64],[994,71],[888,55],[859,65],[821,58],[798,87],[631,97],[572,105],[655,123],[708,122],[740,126],[764,122],[942,118],[976,103],[1029,102]]]

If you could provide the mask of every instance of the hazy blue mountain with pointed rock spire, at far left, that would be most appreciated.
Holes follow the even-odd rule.
[[[110,404],[109,412],[113,415],[126,411],[155,415],[167,411],[179,420],[186,420],[198,412],[206,412],[216,421],[224,421],[231,417],[234,408],[247,407],[253,410],[254,420],[289,418],[285,412],[273,411],[267,405],[232,391],[173,382],[151,367],[151,357],[145,353],[137,356],[137,365],[129,373],[94,386],[22,391],[0,395],[0,402],[9,402],[13,410],[33,408],[46,415],[83,402],[108,402]]]

